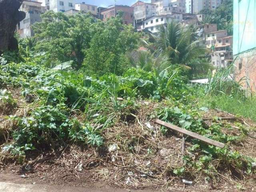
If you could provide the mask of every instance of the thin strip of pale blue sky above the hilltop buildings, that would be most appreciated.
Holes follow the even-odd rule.
[[[76,0],[77,2],[85,2],[87,4],[92,4],[96,6],[101,6],[101,7],[107,7],[109,5],[114,5],[115,1],[114,0]],[[131,6],[137,2],[137,0],[116,0],[117,5],[129,5]],[[144,2],[151,2],[151,0],[144,0]]]

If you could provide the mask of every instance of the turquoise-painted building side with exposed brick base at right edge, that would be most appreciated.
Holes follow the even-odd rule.
[[[255,1],[234,1],[234,64],[236,79],[246,77],[244,87],[256,91],[256,12]]]

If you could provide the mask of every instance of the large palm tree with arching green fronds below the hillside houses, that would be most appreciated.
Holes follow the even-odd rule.
[[[207,49],[197,45],[195,28],[182,26],[172,21],[161,26],[158,36],[154,36],[154,46],[166,54],[172,64],[188,66],[195,58],[204,56]]]

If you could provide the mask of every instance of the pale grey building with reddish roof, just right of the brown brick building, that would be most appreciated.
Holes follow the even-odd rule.
[[[156,5],[137,1],[131,7],[134,8],[135,24],[142,22],[148,17],[156,15]]]

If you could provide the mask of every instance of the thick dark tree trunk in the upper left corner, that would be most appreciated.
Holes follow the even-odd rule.
[[[18,41],[14,32],[18,22],[26,17],[19,11],[24,0],[0,0],[0,51],[18,50]]]

